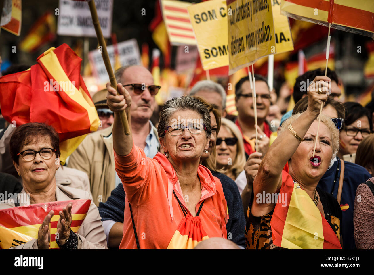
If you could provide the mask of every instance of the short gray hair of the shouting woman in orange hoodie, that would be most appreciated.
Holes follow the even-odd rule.
[[[212,134],[212,126],[210,123],[210,114],[204,103],[191,96],[181,96],[180,98],[172,98],[165,102],[160,112],[160,121],[157,127],[159,137],[165,135],[166,127],[168,127],[169,120],[176,111],[191,110],[201,115],[203,123],[205,124],[205,134],[208,139]]]

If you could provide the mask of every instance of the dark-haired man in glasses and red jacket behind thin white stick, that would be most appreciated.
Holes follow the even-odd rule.
[[[272,133],[266,121],[270,106],[270,90],[266,78],[255,74],[256,107],[258,124],[258,151],[265,155],[269,148],[269,137]],[[235,85],[235,102],[238,111],[236,126],[243,136],[246,158],[255,151],[255,117],[252,99],[252,88],[248,76],[241,78]]]

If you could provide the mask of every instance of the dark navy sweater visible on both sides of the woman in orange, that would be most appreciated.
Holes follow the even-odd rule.
[[[223,194],[225,195],[229,219],[227,220],[227,238],[237,245],[245,247],[245,217],[242,199],[236,183],[225,174],[211,171],[213,176],[218,177],[222,183]],[[125,215],[125,190],[120,184],[110,194],[105,203],[99,204],[101,220],[114,220],[123,223]]]

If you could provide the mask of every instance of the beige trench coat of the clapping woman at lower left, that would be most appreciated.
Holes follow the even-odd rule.
[[[22,189],[21,193],[25,194],[25,189]],[[91,199],[91,195],[81,189],[71,188],[63,185],[56,185],[56,199],[57,201],[68,201],[68,200],[85,200]],[[24,204],[20,204],[23,206]],[[4,201],[0,203],[0,209],[6,209],[15,207],[13,200]],[[102,227],[101,217],[99,210],[95,204],[91,201],[91,205],[88,209],[85,220],[77,231],[78,237],[78,249],[108,249],[107,237]],[[9,249],[38,249],[37,240],[31,240],[25,244],[11,247]]]

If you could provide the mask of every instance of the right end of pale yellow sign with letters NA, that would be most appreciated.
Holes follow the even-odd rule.
[[[281,0],[272,0],[272,2],[277,53],[294,50],[294,43],[292,41],[288,18],[287,16],[281,15]]]

